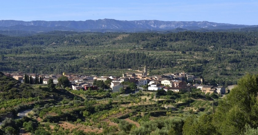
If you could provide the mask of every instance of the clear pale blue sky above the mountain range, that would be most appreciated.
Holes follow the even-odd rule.
[[[258,0],[5,0],[0,20],[210,21],[258,25]]]

